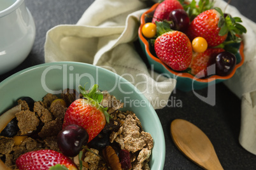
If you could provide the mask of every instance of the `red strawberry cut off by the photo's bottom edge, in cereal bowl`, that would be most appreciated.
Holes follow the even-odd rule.
[[[77,169],[75,163],[54,150],[36,150],[20,155],[16,160],[18,169],[48,170],[50,167],[60,164],[69,170]]]

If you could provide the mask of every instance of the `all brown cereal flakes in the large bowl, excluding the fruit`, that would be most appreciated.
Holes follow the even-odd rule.
[[[102,133],[110,136],[110,145],[102,150],[90,148],[91,152],[83,149],[83,169],[122,169],[117,155],[118,150],[130,152],[132,169],[150,169],[148,162],[153,148],[152,136],[143,131],[141,122],[133,112],[119,110],[124,103],[107,91],[103,91],[103,96],[101,105],[108,107],[112,119],[106,124]],[[69,91],[65,91],[60,97],[48,93],[42,101],[34,103],[32,110],[24,100],[18,100],[22,108],[16,114],[18,136],[24,136],[25,139],[17,145],[15,137],[0,136],[0,159],[6,166],[11,169],[17,168],[16,159],[32,150],[51,149],[60,152],[57,146],[57,134],[62,129],[67,107],[61,101],[56,101],[58,98],[64,99],[66,103],[76,99],[74,93]],[[72,159],[79,167],[78,156]]]

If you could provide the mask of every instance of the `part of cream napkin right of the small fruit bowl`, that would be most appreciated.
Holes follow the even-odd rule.
[[[216,1],[215,5],[225,8],[227,3]],[[236,74],[224,84],[241,98],[239,143],[256,155],[256,23],[241,15],[234,6],[227,6],[225,12],[232,16],[239,16],[247,29],[246,34],[243,34],[242,37],[245,45],[245,62],[241,68],[236,70]]]

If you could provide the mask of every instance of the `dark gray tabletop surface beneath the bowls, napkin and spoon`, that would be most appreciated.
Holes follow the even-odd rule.
[[[83,12],[94,2],[92,0],[25,0],[36,23],[36,40],[31,53],[16,69],[0,75],[0,81],[11,74],[32,65],[44,63],[44,44],[47,30],[59,24],[74,24]],[[256,22],[254,0],[232,0],[231,4]],[[207,89],[196,91],[207,96]],[[3,96],[2,96],[3,97]],[[224,84],[216,86],[216,105],[211,106],[199,100],[194,92],[176,90],[170,100],[180,100],[182,107],[169,106],[156,110],[166,138],[166,160],[164,169],[201,169],[188,160],[174,146],[169,126],[177,118],[186,119],[208,135],[224,169],[256,169],[256,156],[239,145],[238,136],[241,119],[241,100]],[[171,105],[171,104],[170,104]]]

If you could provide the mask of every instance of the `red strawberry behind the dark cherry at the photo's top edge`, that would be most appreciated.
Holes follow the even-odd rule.
[[[165,0],[160,3],[155,9],[155,13],[153,14],[152,23],[160,20],[168,20],[169,13],[173,10],[181,9],[183,10],[183,6],[177,0]],[[160,19],[160,20],[159,20]]]

